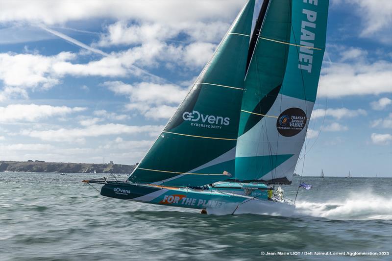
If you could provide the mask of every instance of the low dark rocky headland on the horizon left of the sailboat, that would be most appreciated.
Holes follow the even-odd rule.
[[[0,161],[0,172],[58,172],[58,173],[131,173],[136,165],[64,163],[45,161]]]

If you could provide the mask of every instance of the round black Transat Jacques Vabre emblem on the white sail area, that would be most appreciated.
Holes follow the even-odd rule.
[[[290,108],[282,112],[276,121],[278,132],[285,137],[292,137],[301,132],[306,125],[306,114],[299,108]]]

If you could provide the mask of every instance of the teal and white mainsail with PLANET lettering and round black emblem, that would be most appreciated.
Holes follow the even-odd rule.
[[[290,182],[316,99],[328,0],[268,4],[245,78],[235,179]]]

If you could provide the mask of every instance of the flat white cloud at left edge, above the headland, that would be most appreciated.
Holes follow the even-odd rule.
[[[0,107],[2,122],[14,122],[18,120],[36,121],[54,116],[65,116],[74,112],[86,110],[85,107],[67,107],[36,104],[11,104]]]

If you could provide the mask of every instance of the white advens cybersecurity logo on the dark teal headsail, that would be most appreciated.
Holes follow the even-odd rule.
[[[222,125],[230,124],[230,118],[228,117],[204,115],[198,111],[184,112],[182,119],[192,121],[191,126],[202,128],[221,129]]]

